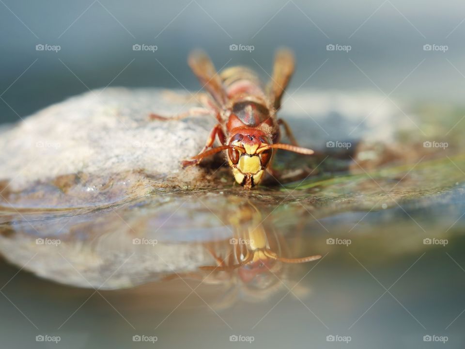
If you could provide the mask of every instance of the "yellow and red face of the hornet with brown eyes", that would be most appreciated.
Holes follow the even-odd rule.
[[[228,162],[233,169],[234,179],[246,189],[259,184],[268,166],[272,149],[261,151],[269,144],[265,137],[236,134],[230,141],[235,148],[228,149]]]

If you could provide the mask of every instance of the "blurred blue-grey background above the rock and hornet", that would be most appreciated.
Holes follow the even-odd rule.
[[[205,49],[217,68],[240,63],[267,78],[262,68],[270,73],[274,50],[288,46],[298,63],[290,89],[463,100],[465,3],[458,0],[2,0],[0,8],[1,122],[108,84],[198,89],[186,64],[193,48]],[[137,44],[157,49],[134,51]],[[254,50],[230,51],[233,44]]]

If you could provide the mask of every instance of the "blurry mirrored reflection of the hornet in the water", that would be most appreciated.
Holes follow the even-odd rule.
[[[321,255],[290,258],[285,238],[267,232],[260,211],[249,202],[240,204],[229,222],[234,227],[233,238],[206,244],[216,265],[200,267],[202,275],[185,275],[202,278],[205,284],[227,285],[228,291],[219,307],[231,305],[238,296],[260,301],[282,288],[282,282],[289,278],[290,264],[321,258]]]

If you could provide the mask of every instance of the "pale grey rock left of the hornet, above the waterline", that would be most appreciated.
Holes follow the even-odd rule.
[[[69,98],[1,133],[0,181],[21,192],[59,178],[58,187],[86,204],[144,195],[154,183],[195,184],[202,171],[183,171],[180,164],[199,152],[213,121],[148,118],[154,111],[171,115],[192,106],[188,96],[150,89],[111,88]],[[109,183],[112,189],[105,190]],[[57,195],[50,193],[37,205],[68,206],[67,198]]]

